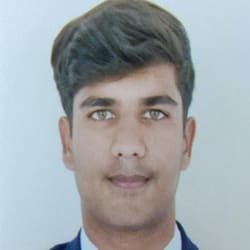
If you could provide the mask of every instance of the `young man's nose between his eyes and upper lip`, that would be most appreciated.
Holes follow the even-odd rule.
[[[146,146],[141,129],[127,124],[117,128],[112,141],[112,155],[116,158],[143,158]]]

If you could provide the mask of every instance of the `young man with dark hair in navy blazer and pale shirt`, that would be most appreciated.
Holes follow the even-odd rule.
[[[63,161],[75,174],[83,225],[52,249],[198,249],[175,218],[195,133],[182,24],[147,1],[105,1],[63,28],[52,66],[66,112]]]

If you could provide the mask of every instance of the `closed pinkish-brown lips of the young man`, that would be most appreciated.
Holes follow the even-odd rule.
[[[115,175],[108,178],[116,187],[123,189],[136,189],[143,187],[150,178],[142,175]]]

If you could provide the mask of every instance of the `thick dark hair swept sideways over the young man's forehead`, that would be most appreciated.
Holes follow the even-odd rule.
[[[51,63],[70,120],[80,88],[160,63],[175,66],[187,116],[194,87],[187,33],[177,18],[148,1],[108,0],[71,21],[55,39]]]

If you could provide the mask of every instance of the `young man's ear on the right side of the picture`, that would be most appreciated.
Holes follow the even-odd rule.
[[[196,123],[193,117],[189,117],[186,120],[185,128],[184,128],[184,145],[183,145],[183,164],[182,169],[186,169],[189,165],[191,154],[192,154],[192,146],[195,136]]]

